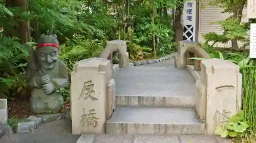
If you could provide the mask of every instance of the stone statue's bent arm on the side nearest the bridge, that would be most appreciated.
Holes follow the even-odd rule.
[[[59,77],[51,79],[54,84],[55,89],[59,89],[60,87],[68,86],[69,75],[68,75],[68,67],[65,65],[63,61],[59,62]]]

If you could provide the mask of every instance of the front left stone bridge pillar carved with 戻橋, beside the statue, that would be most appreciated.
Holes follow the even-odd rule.
[[[102,133],[106,120],[106,83],[110,60],[91,58],[77,62],[71,73],[72,133]]]

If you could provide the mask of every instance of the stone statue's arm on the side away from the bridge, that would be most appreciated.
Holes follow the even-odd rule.
[[[29,66],[27,68],[27,75],[26,75],[26,82],[28,87],[30,88],[39,88],[40,85],[38,85],[38,76],[36,76],[35,70],[31,69]]]

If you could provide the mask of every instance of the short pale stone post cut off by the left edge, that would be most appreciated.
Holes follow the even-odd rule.
[[[0,123],[7,124],[8,109],[7,99],[0,99]]]

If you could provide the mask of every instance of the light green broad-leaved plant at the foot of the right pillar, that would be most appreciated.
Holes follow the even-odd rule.
[[[244,121],[244,112],[240,111],[239,114],[231,116],[224,125],[217,126],[215,132],[221,137],[242,137],[248,127]]]

